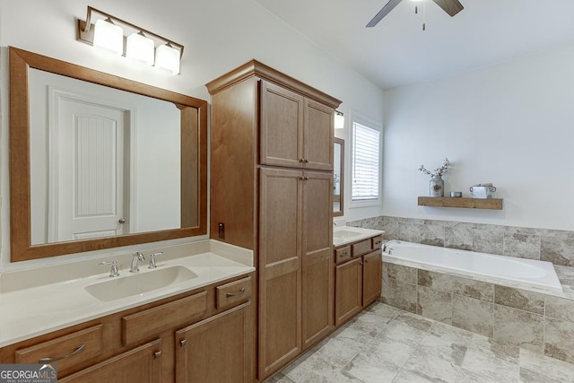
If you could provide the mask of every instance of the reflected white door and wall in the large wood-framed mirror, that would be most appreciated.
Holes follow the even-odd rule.
[[[30,69],[33,245],[181,227],[173,102]]]

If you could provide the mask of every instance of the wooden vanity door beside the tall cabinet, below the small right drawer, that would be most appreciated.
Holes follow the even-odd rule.
[[[176,382],[251,382],[250,303],[176,332]]]

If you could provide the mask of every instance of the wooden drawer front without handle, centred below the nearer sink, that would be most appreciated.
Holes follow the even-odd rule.
[[[122,343],[133,344],[152,338],[167,328],[201,318],[206,312],[207,292],[136,312],[122,318]]]

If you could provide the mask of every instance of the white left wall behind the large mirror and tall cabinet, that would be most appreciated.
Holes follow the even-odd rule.
[[[86,8],[111,13],[185,46],[181,74],[170,76],[154,68],[135,66],[76,41],[76,19]],[[383,91],[317,48],[253,0],[26,0],[0,2],[0,48],[3,81],[0,178],[2,180],[2,256],[8,265],[8,173],[6,48],[13,46],[41,55],[88,66],[142,83],[209,99],[204,87],[213,78],[252,58],[344,100],[350,109],[374,119],[383,118]],[[347,129],[345,129],[346,131]],[[347,181],[348,182],[348,181]],[[378,215],[365,211],[358,215]]]

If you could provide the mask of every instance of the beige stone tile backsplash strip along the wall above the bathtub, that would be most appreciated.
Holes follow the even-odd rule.
[[[384,239],[574,266],[574,231],[378,216],[347,222],[385,231]]]

